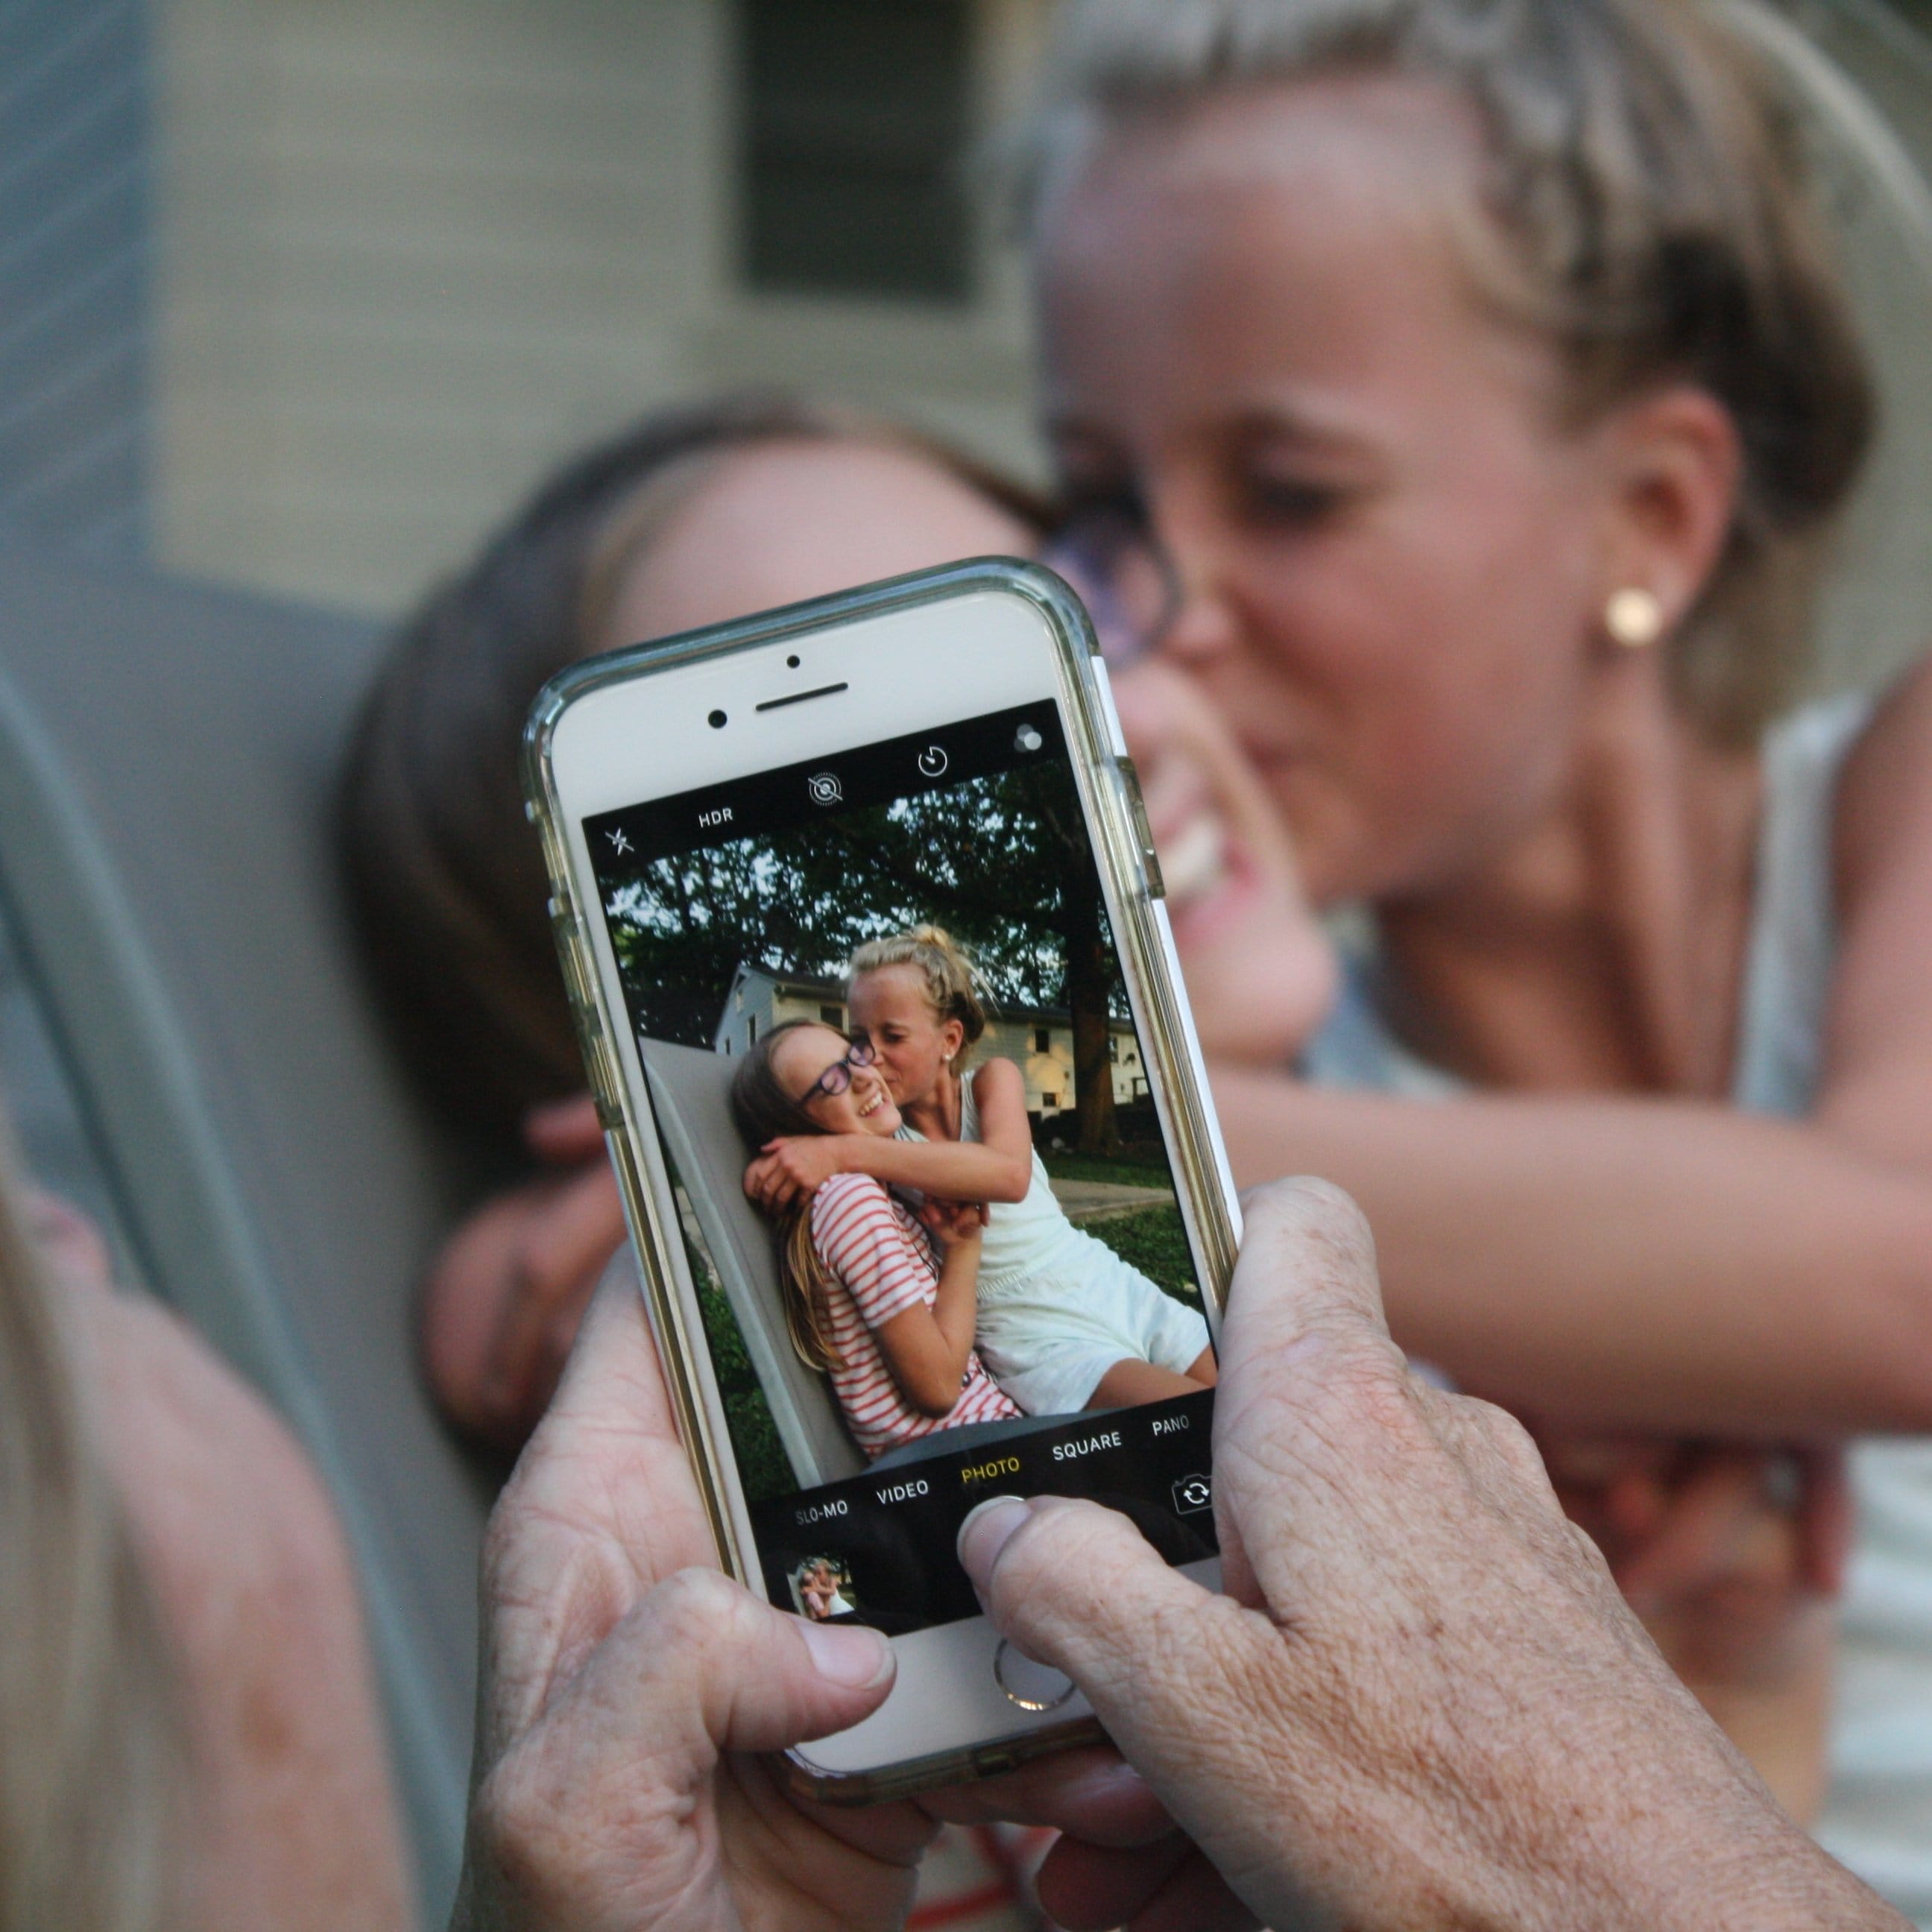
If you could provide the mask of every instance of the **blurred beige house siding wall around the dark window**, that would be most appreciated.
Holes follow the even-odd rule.
[[[1041,0],[980,0],[980,120]],[[724,0],[164,0],[156,531],[394,612],[541,471],[748,383],[1032,468],[1010,251],[964,307],[752,298]]]

